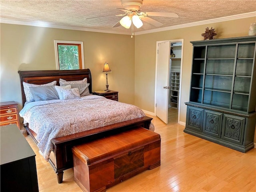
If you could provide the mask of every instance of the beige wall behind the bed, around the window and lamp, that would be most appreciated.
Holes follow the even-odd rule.
[[[21,108],[18,70],[55,70],[54,40],[84,42],[85,68],[92,73],[92,90],[106,89],[105,61],[110,90],[119,100],[134,104],[134,38],[130,35],[1,24],[0,101],[14,100]]]

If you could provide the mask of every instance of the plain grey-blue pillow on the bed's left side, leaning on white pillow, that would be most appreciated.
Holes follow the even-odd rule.
[[[30,92],[35,101],[47,101],[59,99],[58,93],[54,85],[29,87]]]

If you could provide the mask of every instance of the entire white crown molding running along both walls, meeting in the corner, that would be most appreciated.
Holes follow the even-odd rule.
[[[181,25],[158,28],[158,29],[152,29],[152,30],[146,30],[146,31],[141,31],[141,32],[134,32],[134,35],[148,34],[148,33],[154,33],[154,32],[167,31],[167,30],[174,30],[174,29],[204,25],[204,24],[211,24],[211,23],[224,22],[224,21],[230,21],[230,20],[236,20],[236,19],[243,19],[243,18],[248,18],[248,17],[256,17],[256,11],[255,12],[244,13],[244,14],[233,15],[233,16],[209,19],[209,20],[204,20],[204,21],[192,22],[192,23],[188,23],[188,24],[181,24]],[[88,29],[88,28],[82,28],[82,27],[59,26],[59,25],[53,25],[53,24],[46,24],[46,23],[42,23],[42,22],[17,21],[17,20],[3,19],[3,18],[0,18],[0,23],[130,35],[130,30],[128,30],[127,32],[118,32],[118,31],[110,31],[110,30]]]

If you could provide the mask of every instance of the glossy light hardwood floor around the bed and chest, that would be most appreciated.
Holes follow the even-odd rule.
[[[177,110],[169,110],[169,123],[151,116],[161,135],[161,166],[130,178],[107,192],[256,192],[256,148],[247,153],[203,140],[183,132]],[[30,136],[24,134],[36,153],[40,192],[81,192],[73,169],[64,171],[63,183],[38,153]]]

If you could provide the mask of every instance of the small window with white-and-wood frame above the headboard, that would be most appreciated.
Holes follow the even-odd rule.
[[[54,40],[56,68],[59,70],[84,69],[84,45],[81,41]]]

